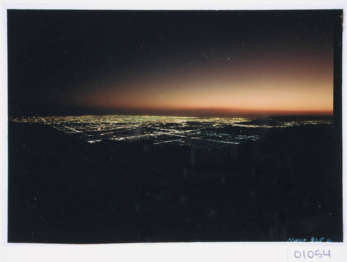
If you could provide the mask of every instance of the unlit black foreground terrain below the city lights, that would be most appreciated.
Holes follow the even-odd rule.
[[[90,144],[9,122],[8,241],[342,241],[332,125],[257,132],[257,141],[203,150]]]

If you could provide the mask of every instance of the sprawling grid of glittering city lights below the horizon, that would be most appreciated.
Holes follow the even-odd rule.
[[[247,118],[201,118],[183,116],[32,116],[15,122],[43,123],[79,137],[88,143],[99,141],[148,141],[203,148],[220,148],[259,139],[257,134],[226,131],[230,127],[286,128],[294,125],[330,123],[329,120],[276,122],[276,125],[251,124]]]

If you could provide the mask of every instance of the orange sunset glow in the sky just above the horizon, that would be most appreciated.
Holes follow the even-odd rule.
[[[318,61],[318,62],[317,62]],[[245,65],[246,64],[246,65]],[[228,115],[332,114],[332,56],[176,67],[74,95],[84,107]]]

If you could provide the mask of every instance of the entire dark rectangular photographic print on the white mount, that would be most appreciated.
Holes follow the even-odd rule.
[[[7,10],[8,243],[343,241],[342,10]]]

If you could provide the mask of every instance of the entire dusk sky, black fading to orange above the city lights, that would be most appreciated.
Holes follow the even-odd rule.
[[[332,114],[337,10],[8,10],[8,114]]]

